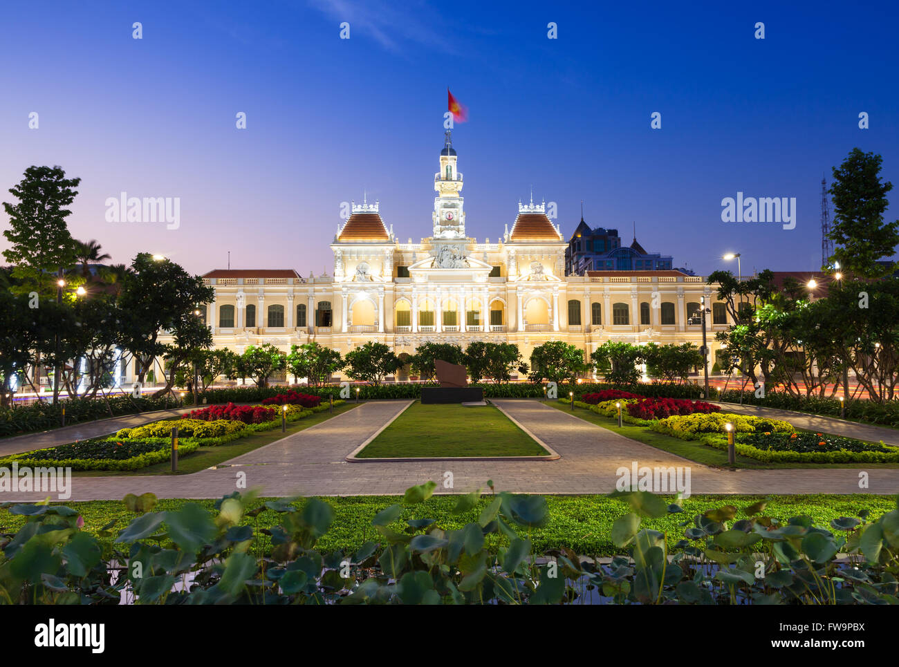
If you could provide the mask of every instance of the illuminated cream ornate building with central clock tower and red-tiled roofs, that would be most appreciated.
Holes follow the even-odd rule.
[[[590,353],[603,342],[702,341],[700,297],[712,332],[727,325],[715,290],[681,271],[586,271],[565,275],[565,240],[544,204],[518,205],[502,238],[468,236],[462,173],[449,131],[434,174],[431,236],[400,243],[378,202],[352,204],[331,249],[334,274],[293,270],[216,270],[205,310],[215,347],[319,342],[342,353],[368,341],[397,354],[425,341],[514,342],[522,355],[548,340]],[[510,218],[512,215],[510,214]],[[572,238],[577,234],[575,230]],[[399,379],[403,379],[401,375]]]

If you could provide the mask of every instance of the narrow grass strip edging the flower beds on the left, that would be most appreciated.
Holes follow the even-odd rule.
[[[153,466],[138,468],[137,470],[75,470],[72,472],[73,477],[120,477],[120,476],[138,476],[138,475],[188,475],[208,467],[218,466],[219,463],[227,461],[230,458],[239,457],[248,451],[259,449],[264,445],[268,445],[275,440],[298,433],[316,423],[325,422],[332,416],[342,414],[348,410],[352,410],[356,403],[344,403],[343,405],[334,406],[334,414],[325,411],[309,415],[306,419],[300,419],[297,422],[287,422],[287,433],[282,433],[280,426],[271,431],[262,431],[253,433],[245,438],[231,440],[224,445],[217,447],[200,447],[191,454],[178,459],[178,472],[172,472],[172,464],[169,461],[164,463],[156,463]]]

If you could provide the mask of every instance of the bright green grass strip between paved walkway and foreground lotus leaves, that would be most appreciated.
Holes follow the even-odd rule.
[[[424,480],[423,480],[424,481]],[[672,498],[673,496],[665,496]],[[668,534],[669,544],[674,544],[683,538],[685,528],[681,523],[690,521],[695,515],[710,509],[732,504],[740,511],[736,519],[743,519],[743,508],[753,502],[764,499],[761,495],[693,495],[682,502],[683,512],[666,514],[658,519],[644,519],[643,528],[655,529]],[[612,522],[621,515],[630,511],[628,505],[603,495],[549,495],[546,496],[549,506],[549,521],[543,528],[532,529],[530,539],[535,551],[542,553],[547,549],[570,547],[578,554],[585,556],[613,556],[624,553],[624,549],[615,547],[610,540]],[[250,507],[259,507],[263,502],[271,498],[258,498]],[[378,511],[399,502],[402,497],[397,496],[349,496],[344,498],[322,498],[334,508],[334,522],[323,538],[318,540],[317,548],[324,552],[343,550],[352,553],[365,541],[373,540],[383,542],[383,537],[372,528],[371,520]],[[397,531],[408,530],[406,520],[434,519],[441,529],[461,529],[467,523],[477,520],[479,512],[492,500],[492,495],[487,493],[477,502],[472,510],[461,514],[453,514],[453,507],[457,498],[451,495],[435,495],[429,500],[414,504],[404,505],[403,513],[399,519],[390,524]],[[156,511],[176,511],[187,502],[196,502],[206,510],[216,513],[213,509],[214,500],[188,501],[182,499],[161,500],[156,505]],[[298,501],[294,504],[299,504]],[[91,501],[91,502],[54,502],[53,504],[66,504],[80,512],[85,519],[85,530],[101,541],[104,552],[111,553],[112,540],[120,529],[125,528],[129,521],[137,517],[134,512],[125,509],[120,501]],[[791,516],[811,516],[815,524],[824,528],[828,527],[831,520],[841,516],[855,516],[863,509],[871,511],[870,519],[895,509],[895,497],[887,495],[851,494],[851,495],[779,495],[770,498],[763,514],[772,518],[787,520]],[[271,528],[276,525],[281,515],[264,510],[255,519],[245,519],[242,524],[253,526],[254,529]],[[111,529],[111,536],[99,537],[98,533],[108,521],[118,520]],[[22,527],[26,517],[10,514],[9,511],[0,509],[0,532],[13,532]],[[527,531],[520,530],[521,534]],[[268,537],[257,532],[257,538],[263,540],[261,547],[268,550]],[[507,544],[507,542],[506,542]],[[117,545],[121,547],[121,545]],[[494,535],[487,540],[488,548],[493,551],[499,547],[498,538]],[[255,546],[253,547],[256,548]]]

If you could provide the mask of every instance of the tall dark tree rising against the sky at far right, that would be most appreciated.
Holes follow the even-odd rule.
[[[881,156],[853,148],[839,169],[833,167],[834,215],[828,234],[836,244],[832,260],[856,278],[880,278],[895,271],[893,262],[877,263],[892,257],[899,245],[899,220],[884,222],[886,193],[893,183],[880,182],[882,162]]]

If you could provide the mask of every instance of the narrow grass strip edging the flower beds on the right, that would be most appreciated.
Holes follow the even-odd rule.
[[[571,412],[571,406],[568,404],[562,404],[558,401],[543,401],[542,403],[554,407],[556,410]],[[739,454],[736,455],[736,464],[731,466],[731,464],[727,462],[727,452],[724,449],[708,447],[708,445],[703,445],[698,440],[681,440],[680,438],[651,431],[643,426],[636,426],[636,424],[630,424],[628,422],[624,422],[619,428],[617,419],[613,417],[604,417],[601,414],[594,413],[592,410],[585,410],[584,408],[577,406],[574,407],[574,413],[572,414],[586,422],[591,422],[604,429],[620,433],[631,440],[643,442],[645,445],[650,445],[656,449],[662,449],[663,451],[676,454],[679,457],[689,458],[691,461],[696,461],[697,463],[702,463],[706,466],[769,469],[807,467],[858,467],[868,469],[872,467],[897,467],[895,463],[763,463],[755,458],[743,457]]]

